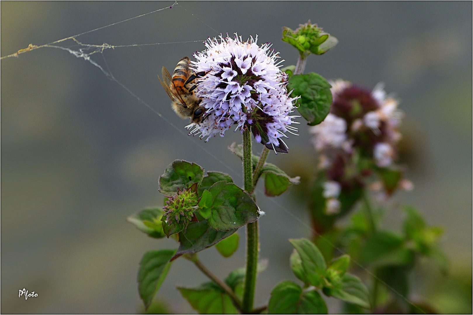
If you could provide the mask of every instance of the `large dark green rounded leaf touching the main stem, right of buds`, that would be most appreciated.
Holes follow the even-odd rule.
[[[240,187],[224,180],[209,189],[213,198],[209,225],[214,230],[239,229],[258,219],[258,206]]]

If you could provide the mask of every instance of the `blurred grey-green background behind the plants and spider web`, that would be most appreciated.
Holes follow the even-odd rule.
[[[50,43],[172,5],[158,2],[1,1],[1,56]],[[472,311],[472,2],[179,2],[165,9],[78,37],[82,43],[159,45],[124,47],[91,56],[154,109],[184,130],[187,121],[170,108],[159,84],[162,66],[204,49],[208,36],[237,32],[272,42],[286,61],[297,51],[281,38],[310,19],[338,38],[322,56],[310,56],[306,72],[373,88],[386,84],[405,112],[402,158],[415,188],[394,196],[416,206],[429,224],[441,225],[450,273],[428,261],[414,272],[414,295],[441,313]],[[168,42],[198,41],[193,43]],[[72,41],[65,47],[79,49]],[[302,122],[302,119],[299,119]],[[307,126],[288,139],[289,154],[270,154],[289,175],[298,161],[313,161]],[[219,170],[242,183],[241,161],[227,146],[241,136],[227,132],[209,143],[183,136],[109,80],[99,68],[67,51],[41,48],[1,60],[1,312],[137,313],[141,256],[176,248],[127,223],[142,208],[162,204],[157,179],[174,159]],[[213,159],[211,151],[229,168]],[[259,152],[261,145],[254,145]],[[311,160],[312,159],[312,160]],[[307,174],[306,174],[307,175]],[[268,269],[257,283],[256,305],[267,303],[281,280],[293,280],[288,238],[310,237],[304,205],[291,194],[275,205],[258,193],[262,258]],[[289,213],[288,213],[289,212]],[[393,208],[385,226],[399,229]],[[223,258],[210,248],[201,260],[219,277],[245,265],[240,248]],[[206,278],[178,259],[158,292],[168,311],[195,313],[175,286]],[[38,293],[18,298],[18,290]],[[328,301],[332,312],[337,304]]]

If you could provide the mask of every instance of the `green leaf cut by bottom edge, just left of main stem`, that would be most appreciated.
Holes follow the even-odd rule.
[[[199,314],[238,314],[228,294],[214,282],[193,289],[177,289]]]

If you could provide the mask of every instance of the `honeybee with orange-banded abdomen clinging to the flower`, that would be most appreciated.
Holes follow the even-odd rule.
[[[163,81],[158,76],[159,82],[163,85],[167,95],[172,100],[171,107],[181,118],[190,117],[193,123],[201,123],[206,117],[202,117],[205,107],[201,106],[201,97],[197,97],[193,90],[197,87],[195,79],[203,77],[207,72],[193,73],[189,68],[189,57],[179,60],[174,69],[173,76],[166,68],[162,68]]]

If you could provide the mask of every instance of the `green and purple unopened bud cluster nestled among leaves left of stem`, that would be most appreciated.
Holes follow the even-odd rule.
[[[177,188],[177,193],[168,197],[166,205],[163,207],[167,225],[184,224],[184,227],[187,228],[193,219],[197,204],[198,196],[195,191],[190,188],[184,190]]]

